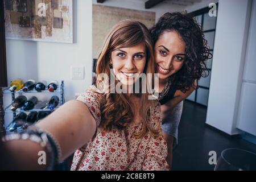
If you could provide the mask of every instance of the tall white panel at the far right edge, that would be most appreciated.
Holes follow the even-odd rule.
[[[238,112],[238,129],[256,136],[256,1],[253,1],[249,36],[246,48],[245,69]],[[256,137],[255,137],[256,139]]]

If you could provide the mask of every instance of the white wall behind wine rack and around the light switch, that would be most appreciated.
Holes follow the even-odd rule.
[[[64,80],[65,100],[75,98],[92,83],[92,1],[73,1],[73,36],[73,44],[6,40],[8,81]],[[71,79],[71,67],[77,65],[85,68],[84,80]],[[4,95],[4,106],[10,98]]]

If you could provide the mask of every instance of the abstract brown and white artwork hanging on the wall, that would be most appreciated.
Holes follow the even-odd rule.
[[[73,43],[72,0],[4,0],[6,39]]]

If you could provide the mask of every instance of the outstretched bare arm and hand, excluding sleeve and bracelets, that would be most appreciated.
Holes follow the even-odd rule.
[[[50,132],[58,140],[63,154],[61,160],[88,142],[97,127],[88,107],[80,101],[65,103],[36,126]],[[45,169],[46,166],[38,165],[38,151],[43,150],[39,144],[30,140],[11,140],[4,144],[6,162],[11,161],[15,165],[10,168]]]

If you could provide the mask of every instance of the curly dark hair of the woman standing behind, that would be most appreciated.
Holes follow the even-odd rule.
[[[170,76],[172,86],[183,93],[191,87],[197,89],[198,84],[195,85],[194,81],[208,76],[205,61],[212,58],[201,27],[187,12],[166,13],[159,18],[154,27],[150,28],[154,44],[165,31],[178,32],[186,45],[183,67]]]

